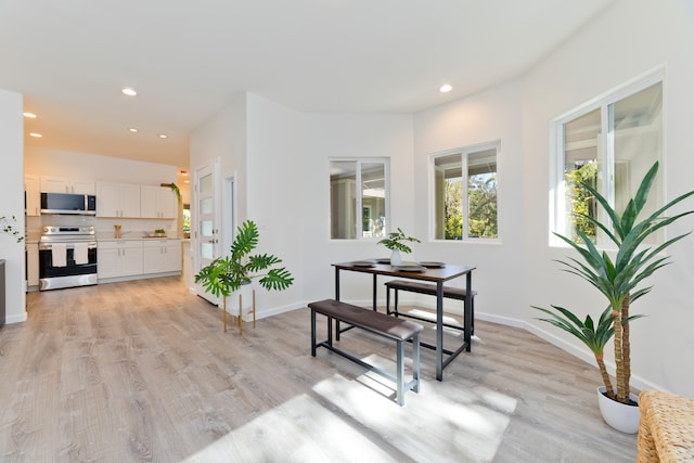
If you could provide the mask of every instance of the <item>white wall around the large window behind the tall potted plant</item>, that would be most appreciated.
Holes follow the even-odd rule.
[[[557,115],[629,79],[666,65],[664,94],[666,152],[664,169],[667,197],[692,188],[694,138],[694,3],[686,0],[630,0],[617,2],[579,35],[548,56],[524,79],[524,163],[526,178],[524,256],[527,298],[523,306],[561,305],[597,314],[605,304],[596,291],[576,276],[558,271],[552,259],[570,253],[551,248],[549,227],[549,121]],[[689,208],[694,208],[690,201]],[[537,227],[532,233],[530,227]],[[689,231],[693,219],[670,228],[671,235]],[[694,310],[689,287],[694,279],[694,237],[672,246],[672,265],[650,283],[653,292],[632,306],[631,313],[648,317],[631,325],[634,386],[658,387],[694,397]],[[590,359],[587,349],[558,330],[534,320],[531,331],[566,343],[564,347]],[[609,356],[608,361],[612,361]],[[597,378],[596,378],[597,382]]]

